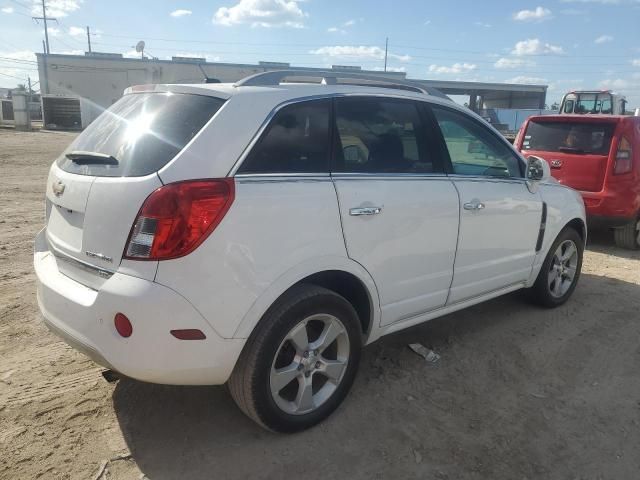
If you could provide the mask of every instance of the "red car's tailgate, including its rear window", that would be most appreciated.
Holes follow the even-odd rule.
[[[562,184],[583,192],[599,192],[612,157],[617,120],[598,117],[534,118],[522,136],[524,155],[538,155]]]

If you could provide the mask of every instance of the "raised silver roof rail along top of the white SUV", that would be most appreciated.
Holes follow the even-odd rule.
[[[369,75],[358,72],[336,72],[330,70],[273,70],[256,73],[238,80],[236,87],[266,87],[280,85],[283,80],[291,77],[319,78],[323,85],[338,85],[338,80],[363,80],[364,82],[342,82],[342,85],[357,85],[368,87],[397,88],[411,92],[424,93],[434,97],[449,99],[439,90],[433,87],[425,87],[414,82],[395,80],[380,75]],[[370,82],[370,83],[366,83]]]

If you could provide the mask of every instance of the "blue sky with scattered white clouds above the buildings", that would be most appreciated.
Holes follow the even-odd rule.
[[[0,86],[37,79],[40,0],[0,0]],[[382,68],[409,78],[542,83],[548,102],[580,88],[613,88],[640,106],[640,0],[48,0],[52,53],[284,61]],[[15,78],[18,77],[18,78]]]

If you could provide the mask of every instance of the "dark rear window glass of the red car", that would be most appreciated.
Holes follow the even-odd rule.
[[[612,123],[532,121],[522,149],[608,155],[614,128]]]

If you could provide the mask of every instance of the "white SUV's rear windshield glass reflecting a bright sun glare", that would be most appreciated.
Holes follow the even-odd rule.
[[[223,103],[202,95],[125,95],[75,139],[58,166],[69,173],[102,177],[156,172],[189,143]],[[78,152],[99,155],[94,158]],[[105,156],[112,158],[101,160]]]

